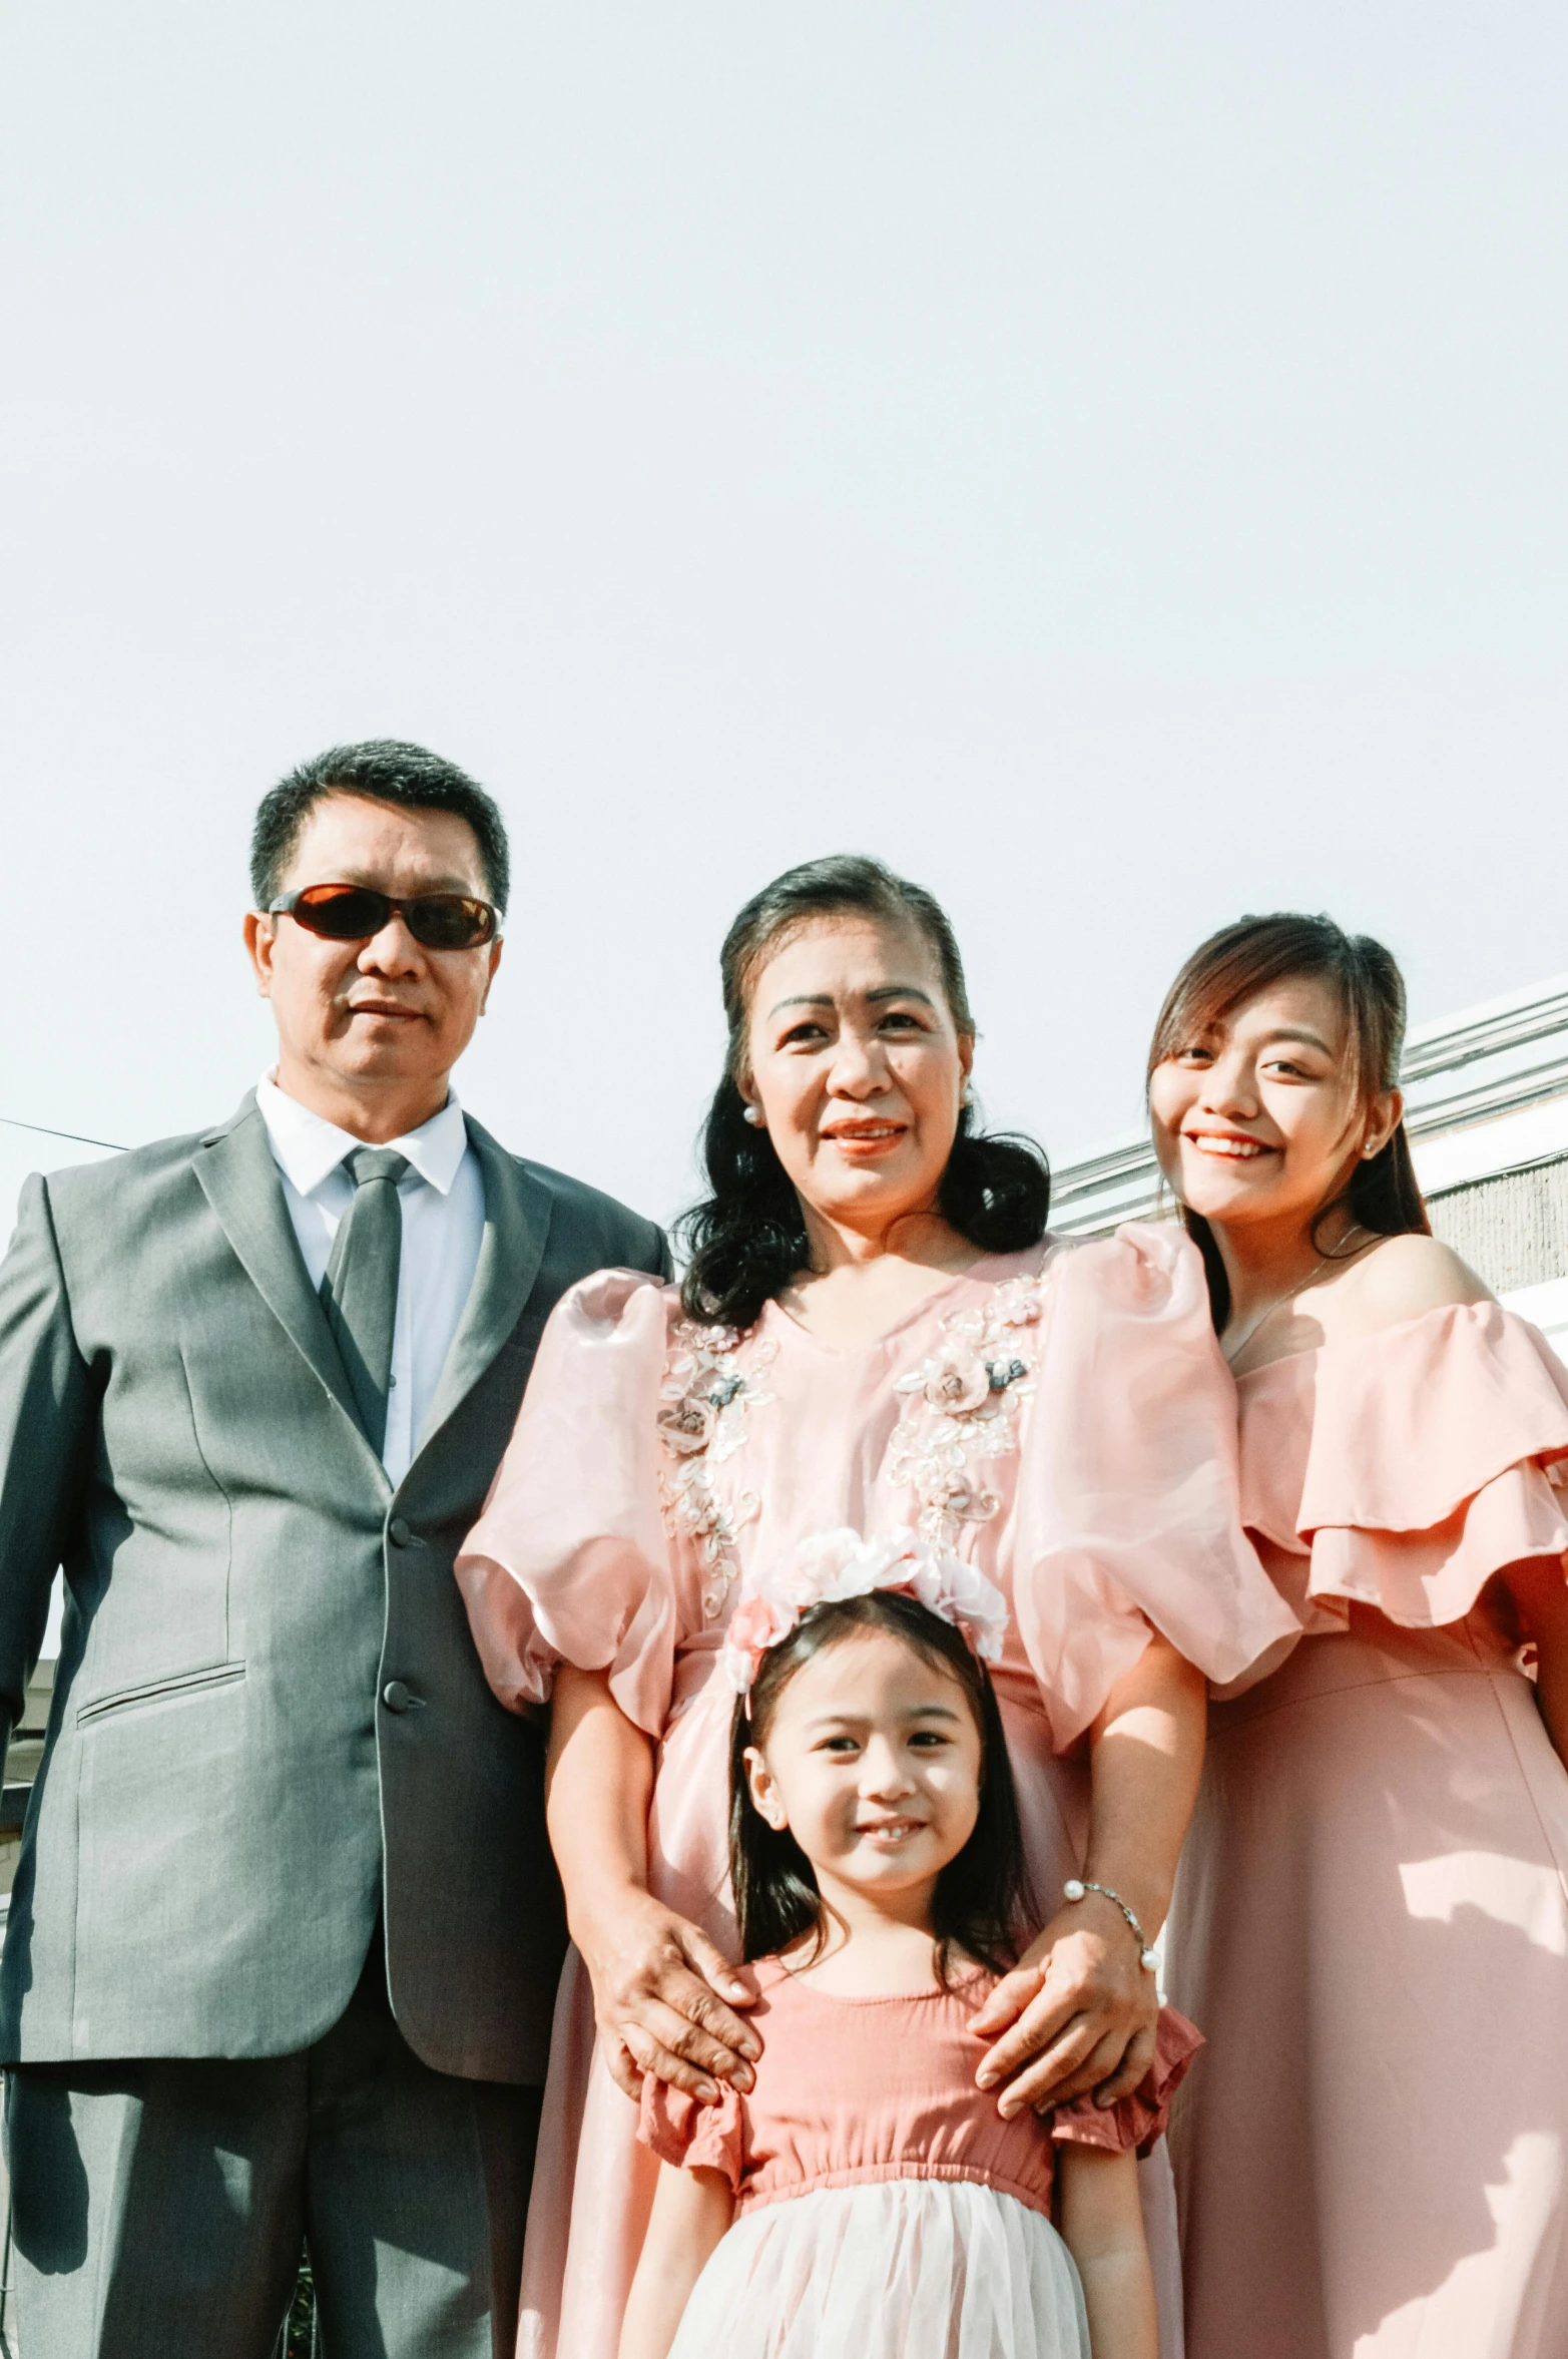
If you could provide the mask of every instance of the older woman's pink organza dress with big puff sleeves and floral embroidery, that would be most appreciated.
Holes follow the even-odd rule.
[[[1042,1920],[1082,1861],[1080,1739],[1151,1623],[1214,1680],[1294,1632],[1240,1529],[1236,1389],[1203,1264],[1174,1229],[979,1262],[844,1352],[778,1305],[738,1335],[606,1272],[540,1342],[516,1434],[457,1581],[495,1694],[606,1668],[658,1739],[651,1885],[736,1956],[729,1720],[714,1677],[747,1564],[851,1526],[915,1529],[1012,1606],[997,1694]],[[1170,2163],[1141,2166],[1179,2359]],[[615,2359],[655,2170],[594,2057],[568,1956],[523,2260],[521,2359]]]

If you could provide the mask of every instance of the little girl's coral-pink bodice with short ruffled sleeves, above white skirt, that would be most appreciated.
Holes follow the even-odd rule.
[[[974,2085],[988,2043],[969,2031],[995,1974],[917,1998],[835,1998],[778,1958],[743,1974],[762,1993],[747,2010],[764,2038],[752,2092],[724,2090],[705,2107],[648,2074],[637,2133],[665,2163],[719,2170],[738,2210],[865,2180],[974,2180],[1049,2220],[1056,2147],[1146,2154],[1203,2048],[1162,2008],[1155,2059],[1132,2097],[1103,2111],[1078,2097],[1045,2118],[1026,2107],[1004,2121],[997,2092]]]

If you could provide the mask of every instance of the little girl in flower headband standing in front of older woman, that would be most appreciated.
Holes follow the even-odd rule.
[[[724,1668],[750,2095],[648,2076],[663,2168],[620,2359],[1155,2359],[1137,2151],[1198,2048],[1108,2111],[1004,2118],[969,2031],[1023,1920],[981,1656],[1007,1611],[913,1533],[828,1533],[740,1604]],[[1082,1887],[1070,1887],[1082,1897]]]

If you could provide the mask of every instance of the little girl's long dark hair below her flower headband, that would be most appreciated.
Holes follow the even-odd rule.
[[[981,1814],[964,1849],[936,1878],[931,1904],[936,1972],[946,1982],[950,1953],[962,1949],[1004,1974],[1016,1963],[1019,1939],[1033,1925],[1035,1908],[995,1689],[962,1630],[896,1590],[872,1590],[868,1597],[813,1606],[778,1647],[764,1654],[750,1694],[750,1717],[747,1698],[736,1701],[729,1739],[729,1873],[740,1923],[740,1956],[773,1958],[809,1934],[821,1946],[828,1932],[811,1861],[795,1835],[769,1826],[752,1802],[745,1748],[766,1743],[778,1698],[795,1673],[856,1630],[891,1630],[927,1663],[953,1673],[969,1698],[981,1732]]]

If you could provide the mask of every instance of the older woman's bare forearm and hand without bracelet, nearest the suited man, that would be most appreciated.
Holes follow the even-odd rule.
[[[745,2059],[762,2041],[724,1998],[747,2008],[752,1993],[705,1932],[648,1892],[653,1748],[601,1670],[556,1673],[545,1795],[566,1923],[620,2088],[637,2097],[646,2071],[705,2104],[719,2095],[712,2074],[750,2088]]]

